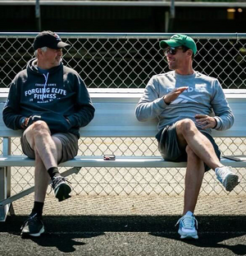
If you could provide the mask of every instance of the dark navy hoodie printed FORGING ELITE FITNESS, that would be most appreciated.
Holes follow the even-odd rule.
[[[75,70],[61,63],[43,74],[34,58],[11,82],[2,118],[14,130],[21,129],[23,117],[30,117],[29,125],[40,119],[48,123],[51,133],[80,137],[80,127],[93,119],[94,111],[84,81]]]

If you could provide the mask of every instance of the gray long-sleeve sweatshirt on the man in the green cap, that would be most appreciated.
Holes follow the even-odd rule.
[[[174,88],[188,86],[170,105],[166,105],[163,96]],[[217,130],[229,129],[234,123],[234,115],[225,99],[220,82],[200,72],[181,76],[175,71],[153,76],[145,88],[144,95],[135,109],[139,121],[158,119],[158,130],[180,119],[192,119],[195,114],[211,115],[214,112]],[[196,123],[198,129],[199,127]],[[211,129],[206,129],[211,133]]]

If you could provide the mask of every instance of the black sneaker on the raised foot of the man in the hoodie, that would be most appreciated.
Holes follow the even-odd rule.
[[[71,193],[71,186],[67,184],[67,181],[64,177],[55,176],[52,179],[52,188],[54,189],[54,193],[59,202],[67,198],[71,198],[69,195],[69,193]]]

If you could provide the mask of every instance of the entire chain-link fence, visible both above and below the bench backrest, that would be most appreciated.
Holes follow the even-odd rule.
[[[0,86],[10,86],[16,73],[33,57],[34,33],[0,33]],[[144,88],[154,74],[168,68],[159,40],[171,34],[59,33],[71,44],[63,62],[75,68],[89,88]],[[246,34],[189,34],[198,46],[194,69],[217,77],[223,88],[246,88]],[[245,154],[244,138],[216,138],[222,154]],[[12,153],[20,155],[20,141],[12,140]],[[154,138],[80,138],[79,154],[114,153],[116,156],[155,156]],[[245,169],[235,170],[241,183],[232,193],[246,193]],[[13,193],[34,184],[33,168],[12,168]],[[76,194],[175,194],[184,193],[185,169],[84,168],[70,178]],[[203,180],[201,193],[225,193],[213,171]]]

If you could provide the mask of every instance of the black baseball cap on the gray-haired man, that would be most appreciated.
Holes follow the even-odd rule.
[[[50,30],[47,30],[40,32],[39,35],[37,35],[34,39],[34,50],[45,46],[51,49],[61,49],[66,46],[70,46],[70,44],[62,42],[62,39],[59,35]]]

